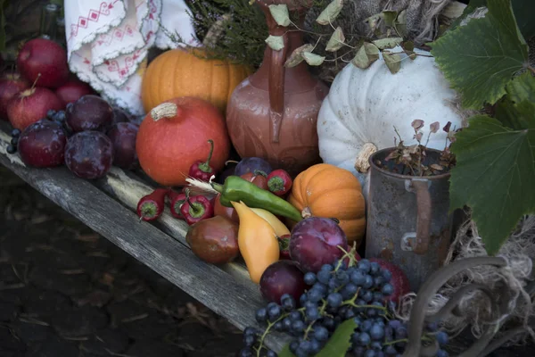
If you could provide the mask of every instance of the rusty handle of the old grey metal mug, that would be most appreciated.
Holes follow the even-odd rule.
[[[407,185],[408,184],[408,185]],[[428,179],[406,180],[406,187],[416,194],[416,237],[414,233],[406,233],[401,241],[416,254],[424,254],[429,250],[431,236],[432,203],[429,193]]]

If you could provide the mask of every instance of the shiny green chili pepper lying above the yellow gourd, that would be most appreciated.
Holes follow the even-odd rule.
[[[212,182],[211,186],[221,194],[219,202],[225,207],[232,207],[231,201],[243,201],[248,207],[263,208],[273,214],[287,217],[299,222],[302,220],[299,210],[292,203],[272,194],[268,190],[257,187],[239,176],[229,176],[224,185]]]

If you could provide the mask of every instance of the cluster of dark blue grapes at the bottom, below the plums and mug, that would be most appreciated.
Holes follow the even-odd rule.
[[[311,287],[300,296],[300,307],[285,294],[280,304],[268,303],[256,311],[256,320],[266,329],[246,328],[245,346],[239,355],[276,356],[263,346],[268,331],[274,329],[295,337],[289,347],[297,357],[313,356],[343,321],[353,319],[357,328],[350,337],[348,353],[356,357],[400,357],[407,345],[407,324],[392,313],[396,306],[388,299],[394,292],[391,272],[366,259],[350,265],[341,260],[325,264],[317,274],[306,273],[305,283]],[[448,344],[448,335],[439,331],[437,324],[428,324],[423,340],[436,340],[440,350],[435,356],[448,357],[442,349]]]

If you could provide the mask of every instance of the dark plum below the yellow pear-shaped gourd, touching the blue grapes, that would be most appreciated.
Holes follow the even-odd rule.
[[[292,261],[278,261],[268,266],[260,278],[260,293],[270,302],[281,303],[281,296],[292,295],[299,301],[305,291],[303,272]]]

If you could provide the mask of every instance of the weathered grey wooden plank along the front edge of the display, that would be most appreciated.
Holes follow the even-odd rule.
[[[258,326],[254,311],[264,301],[257,285],[236,281],[218,267],[201,262],[177,240],[139,221],[134,212],[66,168],[23,166],[17,155],[5,153],[7,141],[9,136],[0,130],[0,163],[29,185],[237,328]],[[287,340],[268,336],[266,345],[278,352]]]

